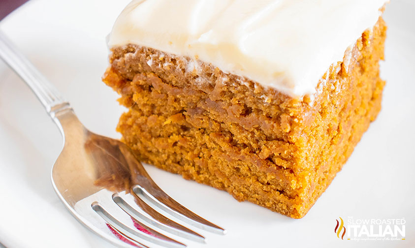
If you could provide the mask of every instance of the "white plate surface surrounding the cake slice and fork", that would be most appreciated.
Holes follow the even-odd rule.
[[[105,36],[127,3],[32,0],[0,23],[79,119],[112,137],[119,137],[115,126],[124,109],[100,77],[108,63]],[[383,109],[306,217],[239,203],[226,192],[146,167],[169,195],[228,230],[226,236],[200,231],[208,243],[186,242],[190,248],[415,247],[414,11],[414,0],[392,0],[386,7]],[[7,247],[112,247],[78,224],[55,196],[50,169],[61,148],[58,128],[40,102],[0,61],[0,242]],[[405,218],[406,240],[339,240],[339,217]]]

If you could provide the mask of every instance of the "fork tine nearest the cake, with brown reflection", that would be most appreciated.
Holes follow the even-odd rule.
[[[226,230],[222,227],[207,221],[206,219],[185,208],[180,203],[176,202],[173,198],[161,190],[161,188],[157,186],[156,183],[148,183],[152,183],[152,185],[135,185],[132,187],[132,191],[137,195],[137,197],[140,197],[140,195],[144,196],[159,209],[195,227],[222,235],[226,234]]]

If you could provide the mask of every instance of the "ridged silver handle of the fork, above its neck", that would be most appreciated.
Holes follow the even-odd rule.
[[[26,82],[52,118],[62,108],[70,108],[69,103],[64,100],[58,90],[13,45],[2,31],[0,31],[0,58]]]

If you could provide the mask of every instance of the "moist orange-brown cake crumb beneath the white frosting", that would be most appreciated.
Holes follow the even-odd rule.
[[[304,217],[381,109],[382,17],[300,97],[197,57],[112,46],[103,81],[128,108],[118,124],[142,161]]]

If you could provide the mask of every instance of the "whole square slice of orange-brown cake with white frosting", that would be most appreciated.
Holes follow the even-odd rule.
[[[381,109],[385,0],[133,0],[103,81],[144,162],[301,218]]]

